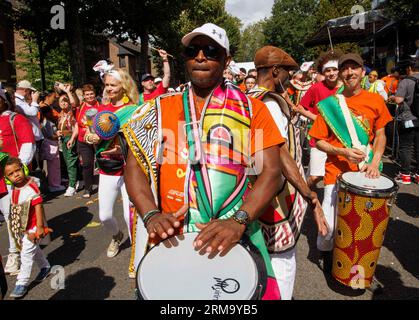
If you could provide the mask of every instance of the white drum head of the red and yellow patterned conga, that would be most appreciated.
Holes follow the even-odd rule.
[[[365,172],[343,173],[341,181],[360,190],[392,192],[397,188],[397,185],[390,178],[381,175],[378,179],[370,179],[365,176]]]

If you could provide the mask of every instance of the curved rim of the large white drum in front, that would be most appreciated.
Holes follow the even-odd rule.
[[[181,233],[181,234],[173,235],[172,237],[179,237],[179,236],[186,235],[186,234],[196,234],[196,235],[198,235],[199,232],[184,232],[184,233]],[[170,238],[172,238],[172,237],[170,237]],[[138,271],[139,271],[142,263],[144,262],[144,259],[148,255],[148,253],[151,252],[151,250],[157,248],[157,246],[160,245],[162,242],[164,242],[164,241],[166,241],[170,238],[162,239],[157,244],[155,244],[153,247],[151,247],[146,252],[146,254],[144,254],[144,256],[141,258],[140,262],[138,263],[138,266],[135,270],[135,289],[137,291],[136,295],[137,295],[139,300],[148,300],[148,299],[146,299],[146,297],[144,295],[144,292],[143,292],[141,286],[139,285]],[[259,252],[259,250],[257,250],[257,252],[253,252],[253,251],[249,251],[248,249],[246,249],[246,246],[252,247],[253,244],[250,242],[249,239],[246,239],[245,235],[243,235],[242,239],[240,239],[240,241],[238,243],[236,243],[236,245],[241,246],[242,249],[244,249],[249,254],[249,256],[251,257],[252,262],[255,266],[255,269],[257,271],[256,272],[256,274],[257,274],[256,287],[255,287],[255,290],[252,293],[252,295],[249,297],[249,300],[257,300],[258,296],[262,296],[263,293],[264,293],[264,290],[262,290],[262,292],[259,292],[259,287],[262,285],[262,289],[265,289],[264,286],[263,286],[263,281],[265,281],[265,282],[267,281],[267,271],[265,270],[266,269],[265,265],[263,264],[263,267],[264,267],[263,270],[259,270],[259,268],[258,268],[259,266],[257,264],[257,259],[262,259],[262,261],[263,261],[262,254]]]

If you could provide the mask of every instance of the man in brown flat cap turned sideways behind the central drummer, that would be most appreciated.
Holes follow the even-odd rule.
[[[326,234],[327,225],[316,193],[309,189],[303,178],[299,129],[294,126],[296,119],[291,117],[290,106],[281,96],[289,71],[298,68],[298,64],[285,51],[265,46],[256,52],[255,66],[257,86],[250,90],[249,96],[266,104],[288,146],[288,150],[281,148],[279,155],[285,164],[279,192],[259,222],[281,297],[291,300],[296,275],[296,244],[308,203],[313,208],[319,232]]]

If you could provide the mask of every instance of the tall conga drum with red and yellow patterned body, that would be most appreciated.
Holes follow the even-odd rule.
[[[354,289],[369,288],[398,186],[384,175],[363,172],[338,177],[338,215],[333,250],[333,277]]]

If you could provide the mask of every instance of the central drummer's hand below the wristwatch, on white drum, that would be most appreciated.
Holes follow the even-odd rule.
[[[240,224],[232,218],[216,219],[206,224],[197,223],[196,226],[201,229],[201,232],[195,239],[195,249],[201,250],[206,246],[205,251],[208,253],[216,251],[222,253],[231,249],[240,241],[246,230],[246,225]]]

